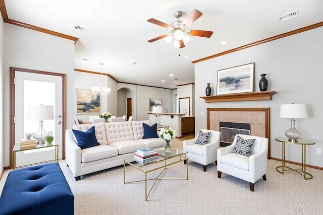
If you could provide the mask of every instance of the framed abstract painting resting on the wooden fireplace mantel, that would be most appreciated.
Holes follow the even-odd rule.
[[[254,63],[218,70],[217,95],[253,92]]]

